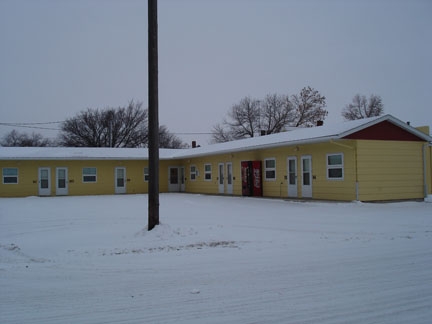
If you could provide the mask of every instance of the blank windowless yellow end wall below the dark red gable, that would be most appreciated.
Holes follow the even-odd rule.
[[[424,198],[423,143],[359,140],[359,199]]]

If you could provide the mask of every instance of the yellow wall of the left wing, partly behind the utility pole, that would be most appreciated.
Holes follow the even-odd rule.
[[[148,183],[144,181],[144,167],[148,161],[110,161],[110,160],[77,160],[77,161],[0,161],[0,169],[4,167],[18,168],[18,184],[0,182],[0,197],[24,197],[38,195],[38,170],[40,167],[50,168],[51,195],[56,195],[56,168],[68,169],[68,195],[102,195],[115,193],[115,168],[126,168],[126,193],[147,193]],[[84,183],[82,169],[97,168],[95,183]],[[160,191],[168,191],[168,161],[161,161]]]

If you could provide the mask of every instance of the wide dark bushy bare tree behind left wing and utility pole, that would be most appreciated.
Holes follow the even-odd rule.
[[[184,146],[165,126],[159,132],[161,147]],[[72,147],[147,147],[148,110],[134,101],[117,109],[87,109],[63,123],[59,142]]]

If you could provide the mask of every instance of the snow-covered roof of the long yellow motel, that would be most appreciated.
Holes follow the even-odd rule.
[[[342,139],[350,134],[388,121],[426,142],[432,137],[404,123],[392,115],[359,119],[335,125],[297,128],[288,132],[247,138],[232,142],[212,144],[189,149],[160,149],[161,160],[193,158],[213,154],[226,154],[300,145]],[[78,147],[0,147],[2,160],[147,160],[146,148],[78,148]]]

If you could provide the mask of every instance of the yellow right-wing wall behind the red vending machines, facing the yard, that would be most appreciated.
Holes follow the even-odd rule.
[[[218,165],[219,163],[232,163],[233,166],[233,195],[242,195],[241,162],[262,162],[262,187],[263,196],[286,198],[288,196],[288,157],[297,158],[297,192],[301,198],[301,157],[310,155],[312,157],[312,198],[332,200],[355,200],[356,199],[356,176],[355,176],[355,141],[339,141],[338,143],[322,143],[314,145],[287,146],[259,151],[246,151],[232,154],[214,155],[208,157],[185,159],[186,169],[186,191],[191,193],[219,194]],[[343,153],[344,156],[344,179],[327,179],[327,154]],[[265,159],[276,160],[276,178],[265,180]],[[212,179],[205,180],[204,165],[211,164]],[[196,166],[199,175],[195,180],[190,179],[190,167]],[[226,170],[226,168],[225,168]],[[225,191],[226,194],[226,185]]]

